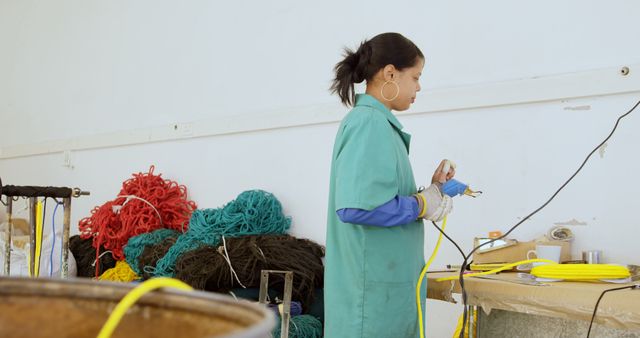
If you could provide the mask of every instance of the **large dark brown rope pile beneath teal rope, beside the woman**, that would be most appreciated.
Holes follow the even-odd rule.
[[[292,299],[300,300],[306,309],[313,302],[314,289],[323,286],[322,257],[322,246],[289,235],[228,238],[219,246],[182,255],[176,263],[176,278],[196,289],[228,292],[259,287],[261,270],[293,271]],[[269,287],[283,289],[284,276],[269,276]]]

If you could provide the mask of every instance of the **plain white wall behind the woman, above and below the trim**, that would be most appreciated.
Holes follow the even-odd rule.
[[[474,85],[461,102],[474,95],[499,101],[499,93],[488,92],[494,82],[640,63],[640,29],[632,20],[639,9],[631,1],[0,0],[0,149],[331,106],[337,99],[326,88],[341,47],[383,31],[404,33],[427,56],[423,97]],[[447,157],[458,162],[460,180],[485,192],[456,198],[447,232],[469,250],[474,236],[506,231],[546,201],[640,99],[640,88],[607,94],[402,115],[413,134],[418,181]],[[575,254],[598,248],[608,262],[640,263],[633,213],[638,114],[624,119],[602,156],[596,153],[514,237],[531,239],[576,219],[587,225],[572,227]],[[269,190],[293,216],[294,234],[324,243],[337,123],[301,124],[78,150],[73,169],[62,166],[61,153],[3,158],[0,176],[5,184],[90,190],[73,201],[75,227],[93,206],[113,199],[132,172],[155,164],[156,172],[187,185],[201,207],[218,207],[246,189]],[[428,227],[427,254],[435,236]],[[450,263],[461,262],[445,243],[434,264]],[[459,311],[428,302],[428,336],[449,336]]]

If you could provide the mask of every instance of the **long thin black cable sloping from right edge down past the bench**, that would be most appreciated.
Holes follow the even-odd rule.
[[[482,243],[480,245],[478,245],[477,247],[473,248],[473,250],[471,250],[471,252],[469,252],[468,255],[465,256],[464,258],[464,262],[462,263],[462,268],[460,269],[460,275],[458,276],[458,281],[460,282],[460,290],[462,293],[462,304],[464,305],[464,312],[463,312],[463,317],[462,317],[462,330],[460,331],[460,338],[464,338],[464,328],[466,325],[466,320],[467,320],[467,291],[465,290],[464,287],[464,267],[467,266],[467,261],[469,260],[469,258],[471,257],[471,255],[473,255],[474,252],[476,252],[479,248],[481,248],[484,245],[493,243],[497,240],[503,239],[505,237],[507,237],[513,230],[515,230],[517,227],[520,226],[520,224],[524,223],[526,220],[528,220],[529,218],[531,218],[531,216],[535,215],[536,213],[538,213],[538,211],[542,210],[544,207],[546,207],[557,195],[558,193],[560,193],[560,191],[562,189],[564,189],[564,187],[567,186],[567,184],[569,184],[569,182],[571,182],[573,180],[574,177],[576,177],[576,175],[578,175],[578,173],[582,170],[582,168],[584,168],[584,166],[587,164],[587,161],[589,161],[589,159],[591,158],[591,156],[598,150],[600,149],[600,147],[602,147],[605,143],[607,143],[607,141],[609,141],[609,139],[611,138],[611,136],[613,136],[613,133],[616,131],[616,129],[618,128],[618,124],[620,123],[620,120],[622,120],[624,117],[626,117],[627,115],[631,114],[632,111],[634,111],[638,105],[640,105],[640,101],[638,101],[631,109],[629,109],[628,112],[622,114],[620,117],[618,117],[618,119],[616,120],[615,125],[613,126],[613,129],[611,130],[611,132],[609,133],[609,135],[604,139],[604,141],[602,141],[600,144],[598,144],[590,153],[589,155],[587,155],[587,157],[584,159],[584,161],[582,162],[582,164],[580,165],[580,167],[578,168],[578,170],[576,170],[576,172],[573,173],[573,175],[571,175],[571,177],[569,177],[568,180],[566,180],[561,186],[560,188],[558,188],[558,190],[556,190],[556,192],[544,203],[542,204],[542,206],[540,206],[538,209],[534,210],[532,213],[530,213],[527,217],[523,218],[520,222],[516,223],[516,225],[512,226],[511,229],[509,229],[509,231],[507,231],[504,235],[494,238],[490,241],[487,241],[485,243]]]

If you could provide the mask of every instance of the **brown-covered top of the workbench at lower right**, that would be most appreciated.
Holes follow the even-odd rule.
[[[436,281],[457,272],[427,274],[427,297],[453,301],[461,293],[458,280]],[[635,282],[635,284],[639,284]],[[633,284],[605,282],[547,282],[532,285],[514,272],[465,279],[469,305],[565,319],[590,321],[600,294],[607,289]],[[610,327],[640,330],[640,288],[607,292],[598,306],[595,322]]]

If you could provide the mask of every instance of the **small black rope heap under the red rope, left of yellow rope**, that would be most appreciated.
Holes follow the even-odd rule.
[[[82,239],[78,235],[69,237],[69,251],[71,251],[73,258],[76,260],[78,277],[95,277],[96,268],[98,270],[97,275],[100,275],[116,266],[116,260],[110,255],[110,252],[106,251],[104,247],[100,248],[100,250],[103,255],[98,259],[98,264],[95,264],[96,249],[93,247],[91,239]]]

